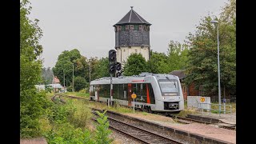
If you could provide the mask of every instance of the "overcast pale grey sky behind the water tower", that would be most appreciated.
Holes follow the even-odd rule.
[[[106,57],[114,49],[114,27],[130,6],[150,22],[150,48],[165,52],[170,40],[183,42],[200,19],[219,15],[227,0],[30,0],[30,18],[38,18],[45,67],[53,67],[64,50],[87,58]]]

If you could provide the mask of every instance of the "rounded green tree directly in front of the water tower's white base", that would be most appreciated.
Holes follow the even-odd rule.
[[[147,62],[142,54],[130,54],[124,66],[124,74],[126,76],[138,75],[147,71]]]

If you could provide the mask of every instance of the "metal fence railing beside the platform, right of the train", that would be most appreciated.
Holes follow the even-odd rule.
[[[204,106],[209,105],[209,106]],[[221,110],[219,110],[219,106],[221,106]],[[210,108],[207,108],[210,107]],[[216,107],[216,109],[214,109]],[[218,111],[218,114],[223,112],[223,114],[230,113],[230,119],[232,119],[232,106],[224,104],[214,104],[214,103],[200,103],[198,102],[198,109],[202,109],[202,114],[204,114],[204,110],[208,111],[211,114],[213,111]]]

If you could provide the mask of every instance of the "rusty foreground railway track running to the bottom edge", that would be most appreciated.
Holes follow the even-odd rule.
[[[94,112],[93,112],[94,113]],[[95,113],[94,113],[95,114]],[[93,118],[94,121],[96,121],[95,118]],[[121,122],[117,119],[108,117],[108,120],[110,122],[110,129],[117,130],[118,132],[121,132],[122,134],[125,134],[126,136],[133,138],[134,140],[142,143],[158,143],[158,144],[179,144],[182,142],[178,142],[174,139],[166,138],[162,135],[155,134],[154,132],[151,132],[149,130],[144,130],[138,126],[133,126],[130,124],[127,124],[125,122]]]

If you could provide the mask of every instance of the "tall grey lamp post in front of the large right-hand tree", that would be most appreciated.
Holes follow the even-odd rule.
[[[210,22],[217,24],[217,41],[218,41],[218,21],[212,20]],[[220,114],[221,114],[221,79],[220,79],[220,69],[219,69],[219,46],[218,46],[218,116],[220,116]]]

